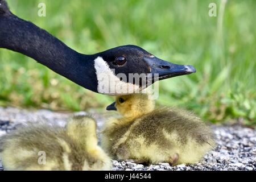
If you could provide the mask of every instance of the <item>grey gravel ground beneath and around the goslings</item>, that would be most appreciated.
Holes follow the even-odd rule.
[[[74,114],[86,114],[79,112]],[[112,113],[113,114],[113,113]],[[38,122],[48,121],[64,126],[65,122],[73,114],[54,113],[48,110],[28,111],[15,109],[13,107],[0,107],[0,137],[24,125],[27,121]],[[93,114],[96,118],[98,128],[102,127],[105,115]],[[113,161],[113,170],[248,170],[256,171],[256,131],[246,127],[233,126],[212,126],[216,135],[217,147],[214,151],[205,155],[200,163],[193,165],[180,164],[172,167],[168,163],[143,166],[131,162]],[[3,170],[0,160],[0,170]]]

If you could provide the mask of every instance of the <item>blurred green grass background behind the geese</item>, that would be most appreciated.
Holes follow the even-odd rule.
[[[172,63],[194,65],[197,73],[159,82],[158,105],[185,107],[215,123],[256,124],[254,0],[7,2],[14,14],[76,51],[135,44]],[[46,3],[46,17],[38,16],[40,2]],[[211,2],[217,17],[208,15]],[[0,106],[102,111],[113,101],[5,49],[0,70]]]

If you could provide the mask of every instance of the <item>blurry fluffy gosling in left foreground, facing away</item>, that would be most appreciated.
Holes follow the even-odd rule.
[[[76,116],[65,129],[30,123],[1,138],[0,157],[7,170],[111,170],[97,142],[90,117]]]

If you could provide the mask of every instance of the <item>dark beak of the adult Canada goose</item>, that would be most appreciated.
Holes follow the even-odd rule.
[[[158,57],[144,57],[144,61],[151,68],[150,73],[152,73],[152,78],[148,78],[150,80],[163,80],[196,72],[196,69],[192,65],[173,64]],[[158,74],[158,76],[155,74]]]

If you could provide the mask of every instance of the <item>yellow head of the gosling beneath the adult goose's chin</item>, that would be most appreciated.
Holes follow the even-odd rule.
[[[125,118],[137,118],[155,109],[155,101],[149,100],[147,94],[130,94],[115,97],[115,102],[106,110],[117,110]]]

